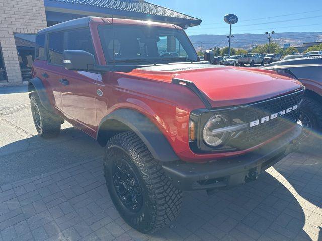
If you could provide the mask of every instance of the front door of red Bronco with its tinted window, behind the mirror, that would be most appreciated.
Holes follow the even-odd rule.
[[[65,49],[84,50],[94,55],[89,28],[65,31]],[[59,80],[64,115],[73,125],[91,136],[95,136],[97,129],[95,81],[99,76],[97,73],[72,71],[63,68]]]

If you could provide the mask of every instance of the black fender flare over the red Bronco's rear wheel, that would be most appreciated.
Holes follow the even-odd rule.
[[[30,79],[28,81],[28,92],[36,91],[40,100],[40,103],[46,110],[54,113],[53,107],[50,104],[46,89],[42,80],[38,77]],[[29,93],[29,98],[31,97],[31,93]]]

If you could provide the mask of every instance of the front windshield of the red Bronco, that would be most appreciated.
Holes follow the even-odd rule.
[[[106,62],[134,60],[146,64],[198,59],[186,34],[178,29],[149,25],[114,25],[112,28],[104,25],[99,26],[99,35]]]

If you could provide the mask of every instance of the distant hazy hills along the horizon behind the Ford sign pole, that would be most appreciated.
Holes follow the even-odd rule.
[[[206,50],[209,48],[220,48],[228,46],[227,35],[200,34],[190,35],[189,38],[196,49]],[[252,49],[252,47],[268,43],[265,34],[233,34],[231,47]],[[290,46],[301,46],[303,42],[322,42],[322,32],[285,32],[275,33],[271,41],[278,43],[281,47],[289,43]]]

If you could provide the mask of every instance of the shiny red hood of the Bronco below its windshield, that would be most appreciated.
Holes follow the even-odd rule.
[[[252,103],[302,87],[299,81],[275,71],[196,63],[143,67],[130,74],[165,82],[190,80],[213,107]]]

